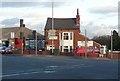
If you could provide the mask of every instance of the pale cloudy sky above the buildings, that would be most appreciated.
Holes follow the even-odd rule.
[[[0,27],[19,26],[24,19],[26,27],[43,32],[46,20],[52,17],[52,0],[2,0],[0,3]],[[77,8],[80,14],[80,29],[92,38],[110,35],[118,31],[119,0],[54,0],[55,18],[75,18]]]

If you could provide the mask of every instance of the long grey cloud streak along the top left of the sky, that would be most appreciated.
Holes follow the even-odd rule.
[[[64,2],[54,2],[55,7],[64,5]],[[2,7],[12,7],[12,8],[21,8],[21,7],[51,7],[51,2],[2,2]]]

